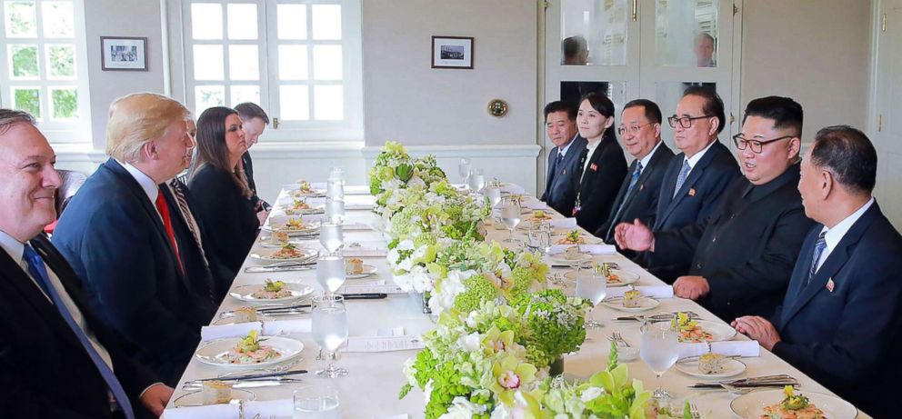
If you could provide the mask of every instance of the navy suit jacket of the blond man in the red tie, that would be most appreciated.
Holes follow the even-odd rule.
[[[190,257],[187,248],[196,244],[185,240],[177,204],[162,189],[180,254]],[[138,362],[177,384],[216,307],[183,274],[160,215],[135,178],[114,159],[100,165],[66,207],[53,240],[95,313],[125,336]]]

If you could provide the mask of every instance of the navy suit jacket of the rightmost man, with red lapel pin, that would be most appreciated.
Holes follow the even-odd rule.
[[[817,224],[807,234],[783,305],[771,318],[774,354],[876,418],[898,417],[902,391],[902,236],[875,202],[811,283]]]

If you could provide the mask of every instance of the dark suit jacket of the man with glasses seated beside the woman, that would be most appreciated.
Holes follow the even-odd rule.
[[[661,182],[664,180],[664,173],[670,159],[674,157],[674,152],[670,150],[666,144],[661,143],[657,146],[655,154],[651,155],[648,165],[642,168],[642,174],[636,181],[636,186],[631,194],[626,195],[626,189],[629,188],[629,181],[636,172],[636,164],[638,159],[633,160],[626,172],[626,178],[620,185],[614,205],[611,206],[611,213],[607,217],[605,224],[601,224],[595,235],[605,240],[605,243],[614,243],[614,229],[616,224],[632,223],[638,218],[646,225],[655,224],[655,214],[657,214],[657,201],[661,195]],[[617,210],[623,206],[623,211],[616,216]],[[615,218],[616,216],[616,218]],[[608,234],[610,230],[610,234]],[[622,249],[620,250],[623,253]]]

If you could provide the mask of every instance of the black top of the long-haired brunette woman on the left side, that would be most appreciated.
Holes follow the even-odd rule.
[[[216,260],[226,266],[229,282],[244,264],[260,227],[254,205],[232,179],[233,175],[228,171],[204,165],[188,184],[195,198],[196,214],[206,224],[210,242],[208,253],[214,254]]]

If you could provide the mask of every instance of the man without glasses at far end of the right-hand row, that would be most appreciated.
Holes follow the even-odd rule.
[[[576,200],[576,165],[586,139],[576,133],[576,108],[556,101],[545,106],[548,139],[555,145],[548,153],[548,176],[542,201],[560,214],[573,213]]]

